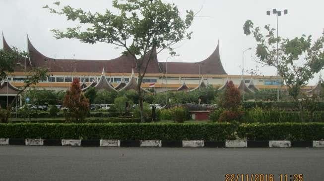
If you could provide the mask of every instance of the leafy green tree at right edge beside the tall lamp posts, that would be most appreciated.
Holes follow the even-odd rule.
[[[275,29],[265,25],[266,34],[263,35],[259,27],[247,20],[244,24],[244,34],[253,35],[257,41],[256,55],[259,62],[275,67],[288,87],[289,95],[293,97],[301,111],[303,118],[303,105],[298,100],[301,88],[314,78],[324,66],[324,32],[316,41],[311,37],[302,35],[294,39],[275,37]],[[279,44],[277,48],[276,45]]]

